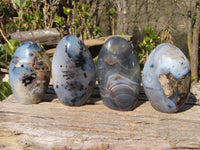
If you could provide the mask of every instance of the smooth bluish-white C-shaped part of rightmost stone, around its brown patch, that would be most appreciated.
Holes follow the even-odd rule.
[[[190,73],[190,66],[183,52],[170,43],[157,46],[143,69],[142,82],[145,93],[152,106],[161,112],[176,112],[178,107],[175,100],[165,96],[159,82],[159,76],[171,73],[178,80]]]

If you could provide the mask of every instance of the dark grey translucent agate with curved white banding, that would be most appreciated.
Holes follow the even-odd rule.
[[[97,75],[103,103],[114,110],[133,110],[139,95],[140,67],[135,50],[121,37],[102,46]]]

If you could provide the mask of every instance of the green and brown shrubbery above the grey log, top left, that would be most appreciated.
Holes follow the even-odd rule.
[[[89,3],[73,0],[72,6],[62,5],[63,9],[60,4],[62,1],[54,0],[13,0],[11,3],[1,1],[0,16],[3,16],[1,29],[5,37],[16,31],[46,29],[53,26],[60,30],[61,36],[72,34],[82,40],[103,36],[100,28],[94,24]]]

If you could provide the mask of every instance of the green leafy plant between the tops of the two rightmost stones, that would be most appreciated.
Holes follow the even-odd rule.
[[[144,67],[144,64],[150,53],[160,43],[159,35],[152,28],[146,26],[144,31],[144,40],[141,43],[139,43],[140,51],[137,51],[141,69]]]

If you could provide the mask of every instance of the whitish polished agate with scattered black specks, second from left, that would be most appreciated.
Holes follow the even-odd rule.
[[[63,37],[52,61],[53,86],[59,100],[70,106],[86,103],[95,85],[95,65],[88,48],[73,35]]]

